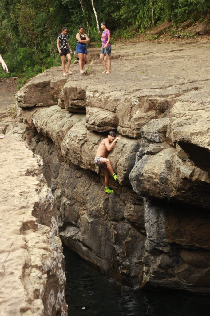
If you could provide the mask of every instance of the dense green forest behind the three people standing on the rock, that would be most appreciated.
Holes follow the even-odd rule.
[[[0,69],[0,77],[20,76],[24,83],[60,65],[56,42],[63,26],[69,29],[72,50],[77,27],[83,25],[88,33],[87,21],[91,42],[100,46],[92,3],[99,26],[108,22],[112,41],[150,29],[152,10],[155,26],[164,21],[173,21],[174,27],[189,19],[201,22],[210,14],[209,0],[0,0],[0,53],[9,69],[9,74]]]

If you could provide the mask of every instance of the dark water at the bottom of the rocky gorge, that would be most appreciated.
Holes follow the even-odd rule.
[[[120,287],[64,246],[68,316],[209,316],[210,296]]]

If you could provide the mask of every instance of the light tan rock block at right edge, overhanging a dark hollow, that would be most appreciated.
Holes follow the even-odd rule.
[[[206,90],[205,90],[206,91]],[[198,91],[199,93],[200,91]],[[193,92],[194,94],[194,92]],[[203,95],[203,93],[201,93]],[[185,99],[192,100],[192,96]],[[199,96],[198,96],[199,98]],[[202,100],[201,100],[202,102]],[[170,112],[167,139],[178,143],[189,159],[203,170],[210,170],[210,110],[207,102],[178,101]]]

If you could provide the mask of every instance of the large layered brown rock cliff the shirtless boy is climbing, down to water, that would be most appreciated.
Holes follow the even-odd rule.
[[[54,104],[19,105],[24,137],[43,157],[66,245],[124,285],[209,293],[209,74],[193,45],[132,45],[144,54],[130,63],[133,49],[119,44],[109,76],[93,61],[86,77],[54,68],[31,79],[27,93],[49,79]],[[94,157],[110,130],[118,183],[111,177],[107,195]]]

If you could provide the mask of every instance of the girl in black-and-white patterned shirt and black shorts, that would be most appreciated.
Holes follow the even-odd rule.
[[[72,50],[71,50],[71,47],[69,46],[69,43],[68,43],[69,36],[67,35],[67,32],[68,32],[68,29],[67,29],[67,27],[64,26],[62,28],[62,33],[58,35],[58,40],[57,40],[57,47],[58,47],[59,55],[60,55],[61,62],[62,62],[63,76],[66,76],[66,73],[65,73],[65,56],[68,59],[66,72],[70,73],[70,74],[72,73],[72,71],[69,70],[69,67],[71,65]],[[70,52],[71,52],[71,54],[70,54]]]

